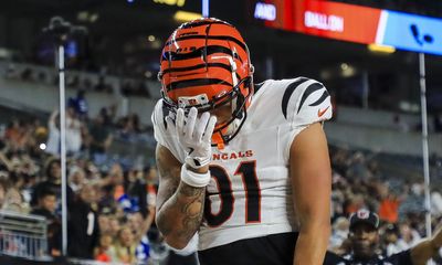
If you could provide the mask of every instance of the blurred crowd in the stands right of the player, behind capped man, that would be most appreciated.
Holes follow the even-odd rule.
[[[436,156],[435,156],[436,157]],[[432,178],[440,179],[441,165],[432,161]],[[332,148],[333,233],[329,250],[344,254],[349,251],[348,216],[359,209],[378,213],[381,227],[382,254],[390,256],[417,245],[425,237],[424,184],[421,180],[392,178],[380,170],[373,153]],[[439,168],[439,170],[438,170]],[[431,191],[432,227],[442,221],[440,189]]]

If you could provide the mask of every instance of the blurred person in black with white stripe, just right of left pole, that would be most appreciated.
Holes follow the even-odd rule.
[[[92,259],[94,248],[98,246],[98,215],[91,204],[95,201],[92,186],[83,186],[69,208],[69,245],[70,256]]]

